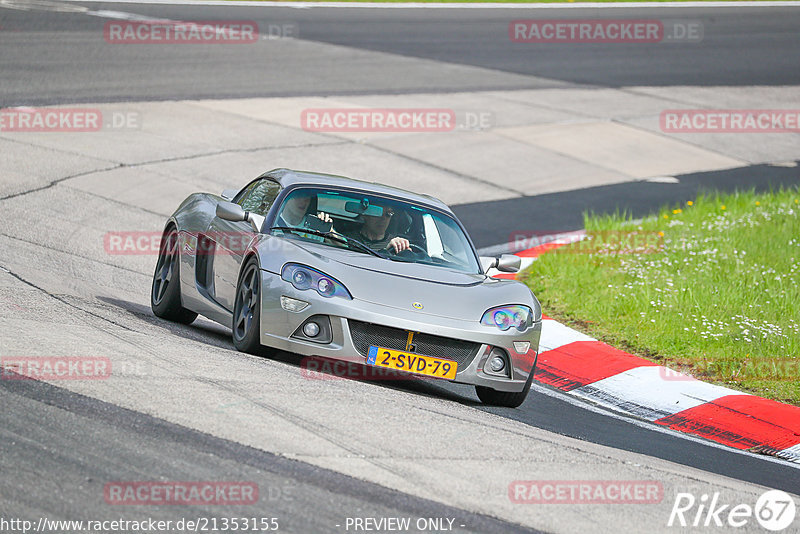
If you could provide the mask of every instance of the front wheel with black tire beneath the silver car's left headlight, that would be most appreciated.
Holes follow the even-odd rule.
[[[258,260],[251,257],[242,269],[236,284],[236,300],[233,305],[233,344],[237,350],[249,354],[260,354],[261,336],[261,270]]]

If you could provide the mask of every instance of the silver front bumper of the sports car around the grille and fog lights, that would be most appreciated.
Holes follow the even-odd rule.
[[[313,290],[299,291],[282,280],[280,275],[264,270],[261,271],[261,288],[261,344],[267,347],[303,356],[365,364],[366,355],[357,346],[363,345],[363,342],[357,344],[351,332],[350,322],[357,321],[476,344],[468,358],[461,358],[464,363],[459,363],[454,382],[517,392],[523,390],[536,366],[541,321],[524,332],[513,329],[503,332],[493,326],[480,324],[480,316],[473,323],[413,309],[380,306],[359,299],[325,298]],[[281,306],[281,296],[302,300],[310,305],[300,312],[289,312]],[[292,337],[312,315],[329,317],[332,334],[330,343],[320,344]],[[523,354],[518,353],[514,341],[530,343],[528,350]],[[502,348],[508,354],[510,377],[484,371],[492,347]]]

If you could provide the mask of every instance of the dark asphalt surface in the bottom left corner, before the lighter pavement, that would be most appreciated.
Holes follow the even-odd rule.
[[[94,504],[105,480],[135,480],[169,472],[173,480],[255,482],[262,505],[259,517],[278,519],[294,532],[337,531],[341,510],[370,517],[448,517],[477,532],[531,532],[531,529],[415,498],[377,484],[296,462],[170,424],[146,414],[27,380],[0,382],[4,443],[3,508],[9,516],[111,520],[124,517]],[[21,420],[18,414],[25,414]],[[36,421],[31,427],[26,424]],[[81,436],[91,436],[83,439]],[[31,465],[35,459],[36,465]],[[32,471],[39,479],[31,484]],[[52,485],[64,488],[54,498]],[[320,506],[315,503],[335,503]],[[313,508],[314,513],[309,513]],[[248,514],[251,512],[248,511]],[[186,518],[228,517],[201,506],[187,506]],[[176,520],[170,506],[155,507],[149,518]],[[71,529],[64,529],[71,530]]]

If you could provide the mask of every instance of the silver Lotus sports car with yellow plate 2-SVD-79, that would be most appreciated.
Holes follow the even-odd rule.
[[[195,193],[164,229],[153,312],[202,314],[237,349],[355,362],[473,384],[516,407],[542,313],[519,258],[479,257],[441,201],[340,176],[276,169],[240,191]]]

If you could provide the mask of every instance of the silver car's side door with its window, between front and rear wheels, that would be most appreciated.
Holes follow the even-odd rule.
[[[254,182],[235,202],[245,211],[266,216],[280,189],[277,182],[265,178]],[[206,236],[213,243],[213,252],[208,258],[212,284],[209,293],[232,312],[239,267],[256,232],[248,222],[226,221],[215,216],[211,219]]]

